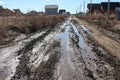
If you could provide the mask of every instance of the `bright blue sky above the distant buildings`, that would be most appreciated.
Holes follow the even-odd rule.
[[[9,9],[20,9],[22,12],[26,13],[31,10],[44,11],[45,5],[57,4],[59,9],[66,9],[71,13],[76,13],[76,9],[84,11],[84,1],[85,5],[90,2],[90,0],[0,0],[0,5],[4,8]],[[106,2],[108,0],[92,0],[93,3]],[[119,1],[119,0],[111,0]]]

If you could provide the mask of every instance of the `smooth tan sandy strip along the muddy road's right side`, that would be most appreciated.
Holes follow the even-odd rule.
[[[110,51],[113,55],[118,56],[120,58],[120,43],[107,37],[104,35],[102,32],[100,32],[97,27],[94,24],[88,24],[84,20],[78,20],[77,21],[86,26],[90,31],[92,37],[99,43],[101,44],[105,49]]]

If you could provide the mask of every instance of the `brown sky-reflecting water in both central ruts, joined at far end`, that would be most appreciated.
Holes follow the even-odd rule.
[[[64,32],[57,34],[56,38],[61,40],[62,43],[62,55],[60,62],[58,63],[58,70],[57,70],[57,79],[58,80],[85,80],[82,74],[82,70],[78,68],[75,62],[77,62],[75,53],[70,47],[69,41],[69,33],[70,28],[73,28],[74,32],[77,36],[79,36],[79,47],[81,48],[81,54],[85,65],[91,71],[95,71],[97,66],[96,64],[90,60],[96,59],[92,49],[87,46],[83,36],[79,34],[78,29],[70,22],[67,21],[62,26],[64,28]]]

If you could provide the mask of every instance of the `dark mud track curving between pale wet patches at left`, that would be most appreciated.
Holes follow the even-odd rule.
[[[19,58],[20,63],[17,66],[16,73],[11,80],[20,79],[20,76],[26,76],[26,75],[29,76],[30,75],[30,69],[27,66],[29,57],[27,56],[26,53],[33,48],[34,44],[37,41],[42,40],[49,33],[50,33],[50,30],[48,31],[48,33],[44,33],[42,36],[39,36],[38,38],[32,40],[30,43],[26,44],[23,49],[18,51],[18,55],[22,55],[22,56],[21,56],[21,58]]]

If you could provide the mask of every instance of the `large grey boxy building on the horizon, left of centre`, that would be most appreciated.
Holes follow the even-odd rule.
[[[46,5],[45,6],[46,15],[55,15],[58,14],[58,5]]]

